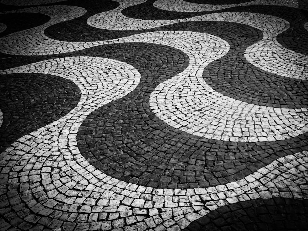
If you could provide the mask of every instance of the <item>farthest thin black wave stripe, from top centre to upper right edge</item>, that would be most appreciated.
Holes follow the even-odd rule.
[[[277,16],[279,18],[286,19],[290,22],[290,28],[281,34],[278,35],[278,42],[282,44],[282,46],[296,51],[298,53],[307,55],[308,54],[308,31],[304,28],[304,24],[308,21],[308,11],[297,9],[293,7],[286,6],[235,6],[222,10],[213,10],[206,12],[173,12],[167,10],[161,10],[154,7],[152,4],[155,2],[147,1],[145,3],[131,6],[122,11],[127,17],[130,18],[140,18],[147,20],[166,20],[166,19],[178,19],[178,18],[189,18],[199,15],[212,14],[218,12],[251,12],[251,13],[259,13],[259,14],[268,14]],[[202,1],[200,3],[204,4],[235,4],[231,2],[225,2],[213,0],[213,3],[207,3],[212,1]],[[222,3],[224,2],[224,3]],[[232,2],[250,2],[250,1],[232,1]],[[196,2],[197,3],[197,2]]]

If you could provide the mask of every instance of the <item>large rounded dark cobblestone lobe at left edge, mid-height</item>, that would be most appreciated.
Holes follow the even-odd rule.
[[[0,152],[18,138],[66,115],[79,102],[75,83],[46,74],[0,75]]]

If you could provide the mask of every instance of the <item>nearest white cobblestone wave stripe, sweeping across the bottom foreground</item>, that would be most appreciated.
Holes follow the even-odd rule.
[[[102,63],[107,65],[107,72],[95,69],[101,68]],[[13,225],[21,229],[43,226],[54,229],[110,230],[124,225],[142,227],[142,230],[173,226],[183,229],[210,211],[238,201],[308,197],[307,177],[303,173],[307,170],[308,152],[279,158],[236,182],[195,189],[155,189],[128,184],[92,167],[80,155],[74,137],[84,115],[95,109],[91,102],[103,100],[106,103],[111,100],[112,94],[115,94],[113,97],[120,97],[120,93],[111,87],[113,81],[121,81],[123,74],[128,69],[132,70],[132,67],[128,67],[126,71],[120,71],[121,79],[117,80],[118,75],[112,77],[111,73],[116,73],[112,71],[113,68],[118,69],[121,65],[127,66],[110,59],[70,57],[3,71],[18,73],[37,70],[38,73],[54,73],[75,82],[83,93],[80,102],[82,107],[77,106],[67,116],[20,138],[1,154],[0,164],[3,167],[0,182],[4,186],[1,187],[4,188],[1,191],[4,195],[2,205],[15,211],[27,211],[10,211],[10,215],[4,212],[2,215],[8,221],[14,218]],[[42,67],[47,69],[42,70]],[[85,67],[97,70],[98,81],[95,81],[96,71],[87,72]],[[108,70],[111,70],[110,74],[107,74]],[[128,74],[128,78],[135,75],[138,73]],[[87,76],[91,78],[87,79]],[[103,79],[99,79],[102,78],[100,76]],[[113,79],[112,82],[107,80],[109,77]],[[104,84],[101,86],[105,81],[109,87]],[[130,83],[129,80],[125,82]],[[106,91],[106,87],[109,91]],[[100,89],[105,89],[106,96],[101,94]],[[123,87],[120,89],[123,90]],[[55,217],[55,214],[58,216]],[[84,217],[82,214],[89,216]],[[67,217],[67,222],[58,219],[61,216]]]

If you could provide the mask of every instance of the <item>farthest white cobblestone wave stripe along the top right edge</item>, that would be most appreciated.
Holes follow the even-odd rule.
[[[243,2],[238,4],[202,4],[187,2],[184,0],[158,0],[153,3],[158,9],[178,12],[202,12],[211,10],[223,10],[235,6],[253,6],[253,5],[270,5],[270,6],[289,6],[294,8],[301,8],[298,2],[294,0],[256,0],[251,2]],[[308,9],[308,8],[304,8]]]

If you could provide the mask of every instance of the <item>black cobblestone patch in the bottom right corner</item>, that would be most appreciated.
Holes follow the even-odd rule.
[[[218,208],[183,231],[307,231],[308,200],[241,201]]]

